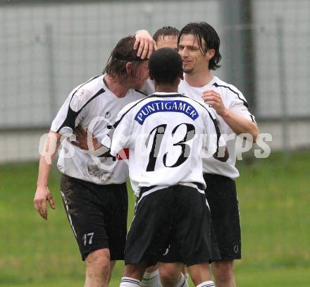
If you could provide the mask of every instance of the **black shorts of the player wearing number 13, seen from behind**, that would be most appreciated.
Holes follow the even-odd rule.
[[[180,250],[179,261],[187,266],[212,257],[209,208],[196,188],[174,185],[149,194],[142,190],[127,236],[125,264],[151,266],[171,245]]]

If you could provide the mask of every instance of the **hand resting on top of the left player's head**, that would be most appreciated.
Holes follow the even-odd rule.
[[[151,53],[157,49],[156,42],[147,30],[137,30],[135,33],[133,49],[137,50],[137,56],[141,59],[149,59]]]

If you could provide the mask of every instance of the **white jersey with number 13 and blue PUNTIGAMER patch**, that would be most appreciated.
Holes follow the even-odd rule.
[[[202,157],[212,157],[225,145],[211,109],[189,97],[156,92],[125,106],[118,114],[111,154],[129,147],[129,176],[135,194],[183,184],[201,190]],[[202,154],[204,151],[204,154]]]

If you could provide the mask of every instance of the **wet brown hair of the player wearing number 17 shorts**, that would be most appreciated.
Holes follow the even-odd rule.
[[[133,49],[134,44],[135,36],[130,35],[120,39],[111,52],[103,73],[107,73],[118,83],[123,84],[128,80],[126,63],[132,62],[131,75],[135,78],[137,66],[144,60],[137,56],[137,50]]]

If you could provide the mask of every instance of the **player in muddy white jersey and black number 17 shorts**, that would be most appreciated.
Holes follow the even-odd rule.
[[[113,266],[123,259],[128,195],[128,166],[115,158],[94,157],[68,140],[79,125],[102,139],[120,109],[145,95],[140,89],[149,76],[148,63],[133,49],[135,37],[120,39],[98,75],[75,87],[61,106],[39,162],[35,209],[47,219],[46,200],[54,208],[48,181],[51,164],[62,141],[58,169],[68,221],[86,261],[85,287],[107,286]],[[69,151],[69,152],[68,152]],[[49,157],[47,155],[50,155]]]

